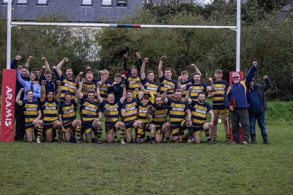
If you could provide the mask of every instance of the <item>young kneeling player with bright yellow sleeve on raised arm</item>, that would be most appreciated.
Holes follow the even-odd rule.
[[[150,94],[151,101],[149,101],[149,96],[146,94],[142,97],[142,103],[139,102],[137,118],[144,123],[144,128],[142,129],[142,131],[137,131],[137,144],[141,144],[147,141],[147,139],[145,138],[145,132],[154,132],[156,130],[156,126],[154,124],[151,124],[151,121],[147,118],[147,110],[149,107],[153,107],[155,97],[149,90],[147,90],[146,93]]]

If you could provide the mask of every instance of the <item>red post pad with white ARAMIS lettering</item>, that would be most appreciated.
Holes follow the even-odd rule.
[[[0,141],[14,141],[16,70],[4,69],[2,77]]]

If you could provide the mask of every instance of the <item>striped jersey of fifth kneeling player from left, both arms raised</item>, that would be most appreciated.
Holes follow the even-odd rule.
[[[112,125],[113,122],[119,120],[119,107],[121,105],[120,100],[115,103],[109,103],[108,101],[103,100],[101,105],[105,115],[105,125]]]

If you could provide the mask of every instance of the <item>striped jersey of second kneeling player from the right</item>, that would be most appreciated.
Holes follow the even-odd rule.
[[[185,120],[185,113],[187,110],[190,110],[186,102],[168,99],[166,104],[169,106],[168,109],[171,125],[177,125],[182,120]]]

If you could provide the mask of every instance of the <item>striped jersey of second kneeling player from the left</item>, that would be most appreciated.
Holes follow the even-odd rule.
[[[42,110],[43,110],[43,121],[44,125],[50,125],[55,120],[58,120],[57,110],[58,110],[59,101],[47,101],[44,100],[42,102]]]

